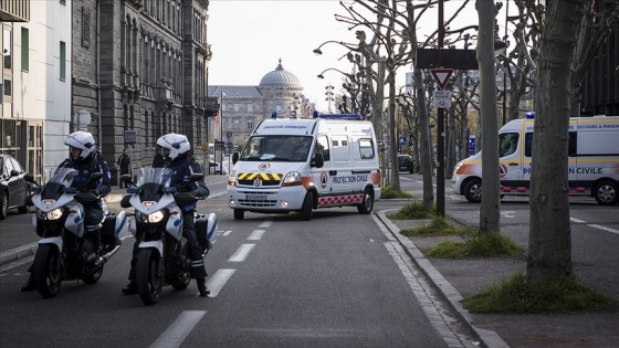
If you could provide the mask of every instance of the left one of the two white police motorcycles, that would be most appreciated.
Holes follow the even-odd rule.
[[[32,225],[41,239],[31,272],[43,298],[54,297],[63,281],[98,282],[103,266],[118,251],[120,238],[127,230],[125,212],[109,213],[104,204],[101,250],[96,250],[95,242],[85,232],[84,204],[98,200],[87,188],[103,173],[92,173],[80,189],[71,187],[76,175],[75,169],[60,168],[43,186],[31,175],[24,177],[34,184],[30,188],[33,194],[28,203],[35,207]]]

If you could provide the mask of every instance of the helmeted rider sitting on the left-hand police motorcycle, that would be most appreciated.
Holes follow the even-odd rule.
[[[99,151],[96,151],[95,138],[88,131],[74,131],[64,139],[64,145],[69,146],[69,158],[56,168],[72,168],[77,171],[73,177],[71,187],[82,189],[91,179],[91,173],[102,172],[103,177],[93,181],[88,186],[88,191],[97,196],[98,200],[92,204],[84,205],[84,228],[87,235],[94,241],[97,252],[101,250],[101,222],[103,221],[103,198],[112,190],[109,187],[109,167],[103,159]],[[32,266],[28,270],[31,272]],[[32,281],[32,272],[21,287],[22,292],[36,289]]]

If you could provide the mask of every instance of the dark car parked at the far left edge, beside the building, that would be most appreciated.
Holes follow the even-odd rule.
[[[7,218],[9,209],[17,208],[25,213],[25,198],[30,184],[23,179],[25,171],[14,157],[0,155],[0,220]]]

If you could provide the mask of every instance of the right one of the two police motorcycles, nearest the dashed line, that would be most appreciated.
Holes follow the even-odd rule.
[[[133,207],[129,231],[138,244],[135,265],[136,287],[146,305],[159,299],[161,289],[171,285],[185,289],[191,278],[189,244],[182,236],[182,211],[179,205],[196,203],[201,198],[187,192],[185,187],[170,186],[171,170],[167,168],[141,168],[136,182],[129,176],[122,180],[130,187],[120,201],[120,207]],[[202,173],[192,173],[189,181],[198,181]],[[132,215],[132,213],[129,213]],[[198,243],[206,256],[217,240],[214,213],[195,213]]]

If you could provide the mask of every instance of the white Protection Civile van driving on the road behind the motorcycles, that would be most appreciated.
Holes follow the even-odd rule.
[[[228,204],[245,212],[300,212],[354,205],[369,214],[380,199],[378,146],[370,122],[359,115],[271,118],[233,154]]]

